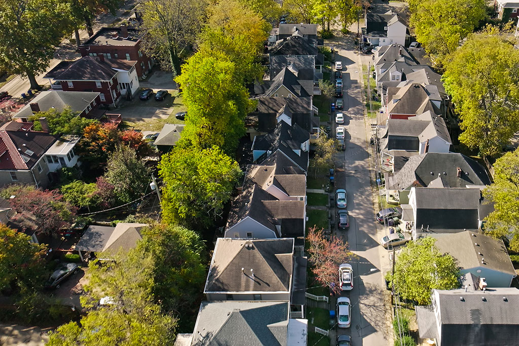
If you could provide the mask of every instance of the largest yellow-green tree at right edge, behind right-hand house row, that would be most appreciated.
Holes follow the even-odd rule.
[[[472,34],[445,64],[445,90],[460,114],[461,143],[496,156],[519,131],[519,51],[495,30]]]

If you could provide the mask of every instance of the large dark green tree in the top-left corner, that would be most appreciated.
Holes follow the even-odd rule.
[[[47,68],[54,47],[73,26],[70,4],[60,0],[4,0],[0,2],[0,66],[29,78]]]

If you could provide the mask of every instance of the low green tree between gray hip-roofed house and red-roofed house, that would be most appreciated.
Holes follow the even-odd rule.
[[[55,108],[50,108],[45,112],[38,112],[29,118],[34,123],[34,130],[42,131],[42,124],[39,118],[45,117],[49,124],[49,132],[52,135],[76,134],[82,135],[83,130],[92,123],[97,122],[93,119],[87,119],[78,116],[72,112],[69,106],[66,106],[62,112],[58,112]]]

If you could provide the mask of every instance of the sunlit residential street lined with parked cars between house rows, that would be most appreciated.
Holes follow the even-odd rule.
[[[355,30],[357,25],[355,24]],[[353,28],[352,28],[353,29]],[[367,64],[371,55],[359,56],[354,46],[354,34],[340,35],[330,41],[338,53],[335,60],[343,62],[344,127],[346,128],[346,150],[336,157],[335,188],[348,191],[350,229],[336,230],[337,236],[349,243],[350,250],[358,256],[351,261],[354,280],[353,290],[343,293],[352,303],[352,325],[349,329],[337,328],[337,333],[351,335],[352,344],[388,345],[388,317],[384,306],[383,270],[389,266],[387,252],[379,245],[384,236],[383,227],[375,220],[371,179],[373,172],[371,119],[364,117],[362,100],[361,60]],[[335,120],[335,113],[332,120]],[[335,136],[335,121],[332,122]],[[374,185],[375,186],[375,185]],[[336,210],[335,210],[336,212]],[[336,227],[335,227],[336,229]],[[330,301],[331,309],[336,299]],[[332,345],[336,336],[331,335]]]

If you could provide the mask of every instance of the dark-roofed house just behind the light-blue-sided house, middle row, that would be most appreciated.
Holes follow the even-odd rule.
[[[251,141],[255,136],[274,131],[280,121],[296,123],[310,133],[319,132],[319,110],[312,98],[258,98],[254,112],[247,115],[245,126]]]

